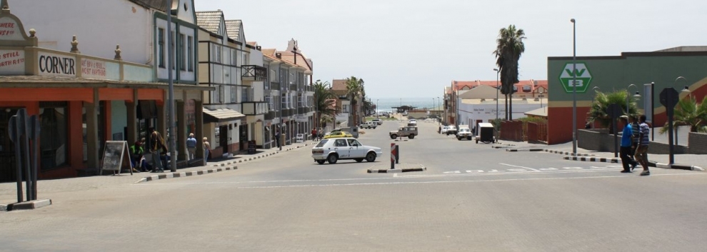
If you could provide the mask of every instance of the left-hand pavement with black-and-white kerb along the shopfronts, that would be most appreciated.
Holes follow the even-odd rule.
[[[304,143],[294,143],[287,146],[282,146],[282,151],[291,151],[297,148],[303,148],[306,146],[311,146],[313,141],[306,141]],[[164,173],[121,173],[116,176],[89,176],[89,177],[79,177],[79,178],[63,178],[54,180],[40,180],[37,183],[39,191],[39,198],[43,198],[43,193],[59,193],[66,191],[89,191],[95,190],[96,188],[104,188],[108,186],[120,186],[128,185],[131,183],[142,183],[147,181],[154,181],[158,179],[166,178],[181,178],[186,176],[199,176],[208,173],[215,173],[219,171],[230,171],[235,170],[242,163],[247,163],[249,161],[254,161],[259,158],[266,158],[268,156],[276,155],[281,151],[278,148],[270,149],[258,149],[256,154],[239,154],[234,156],[234,158],[221,159],[219,161],[209,161],[208,166],[197,166],[189,168],[177,169],[176,172],[170,172],[169,170]],[[23,190],[25,189],[23,183]],[[16,203],[17,201],[17,183],[8,182],[0,183],[0,208],[4,204]]]

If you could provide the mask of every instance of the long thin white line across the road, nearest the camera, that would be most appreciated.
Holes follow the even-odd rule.
[[[673,174],[653,174],[651,176],[694,176],[706,175],[704,173],[673,173]],[[476,182],[508,182],[508,181],[550,181],[564,179],[591,179],[591,178],[638,178],[638,176],[586,176],[576,178],[506,178],[506,179],[484,179],[484,180],[465,180],[465,181],[407,181],[407,182],[381,182],[381,183],[339,183],[325,185],[296,185],[296,186],[241,186],[239,189],[268,189],[268,188],[295,188],[295,187],[326,187],[326,186],[383,186],[383,185],[404,185],[416,183],[476,183]]]

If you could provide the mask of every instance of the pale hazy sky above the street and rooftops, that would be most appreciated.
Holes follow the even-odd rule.
[[[441,96],[451,81],[496,80],[498,31],[523,29],[519,79],[546,80],[548,56],[618,56],[707,46],[707,1],[194,0],[241,19],[247,41],[284,50],[295,39],[314,79],[356,76],[376,98]]]

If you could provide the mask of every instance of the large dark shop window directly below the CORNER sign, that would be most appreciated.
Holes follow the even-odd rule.
[[[40,102],[39,126],[41,152],[41,170],[46,171],[65,166],[69,159],[69,124],[66,120],[68,111],[66,102]]]

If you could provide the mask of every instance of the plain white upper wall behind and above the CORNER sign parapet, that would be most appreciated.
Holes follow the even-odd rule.
[[[113,59],[119,44],[124,61],[151,59],[152,13],[127,0],[9,0],[8,5],[26,30],[36,30],[43,46],[56,43],[50,49],[71,51],[76,35],[81,54]]]

